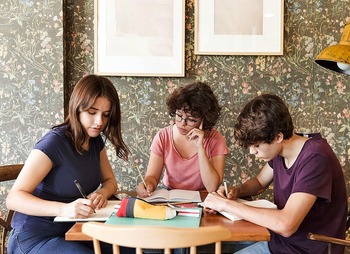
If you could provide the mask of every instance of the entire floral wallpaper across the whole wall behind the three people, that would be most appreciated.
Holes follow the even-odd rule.
[[[35,141],[63,119],[74,84],[94,71],[94,1],[0,0],[0,7],[0,160],[6,164],[26,159]],[[110,77],[132,151],[125,163],[108,150],[120,189],[140,182],[136,167],[145,172],[153,136],[171,121],[166,96],[194,80],[210,84],[222,106],[217,129],[230,148],[225,180],[246,181],[263,165],[234,144],[233,126],[243,104],[270,92],[287,102],[296,131],[321,132],[328,140],[350,187],[350,77],[314,63],[339,41],[350,0],[284,1],[282,56],[195,55],[194,0],[186,1],[185,13],[185,77]],[[6,191],[1,187],[0,195]]]

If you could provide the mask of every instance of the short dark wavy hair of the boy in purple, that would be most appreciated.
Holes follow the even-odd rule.
[[[276,95],[262,94],[249,101],[237,118],[234,128],[236,142],[248,148],[258,143],[271,144],[278,133],[292,137],[292,117],[287,105]]]

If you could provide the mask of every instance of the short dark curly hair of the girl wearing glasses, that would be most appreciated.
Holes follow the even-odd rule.
[[[174,117],[176,110],[183,110],[193,117],[203,119],[203,130],[211,130],[220,117],[221,107],[210,86],[194,82],[175,89],[167,98],[169,115]]]

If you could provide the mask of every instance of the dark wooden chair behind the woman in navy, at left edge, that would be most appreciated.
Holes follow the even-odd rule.
[[[14,165],[5,165],[0,166],[0,182],[6,182],[15,180],[19,174],[19,172],[22,170],[23,164],[14,164]],[[2,228],[1,233],[1,248],[0,253],[5,253],[5,243],[8,232],[11,230],[11,220],[13,216],[14,211],[9,210],[5,217],[0,218],[0,225]]]

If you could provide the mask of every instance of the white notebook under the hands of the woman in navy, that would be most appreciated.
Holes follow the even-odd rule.
[[[114,210],[119,208],[119,200],[108,200],[106,207],[99,210],[95,210],[96,213],[90,214],[88,218],[66,218],[66,217],[55,217],[55,222],[74,222],[74,221],[106,221],[113,214]]]

